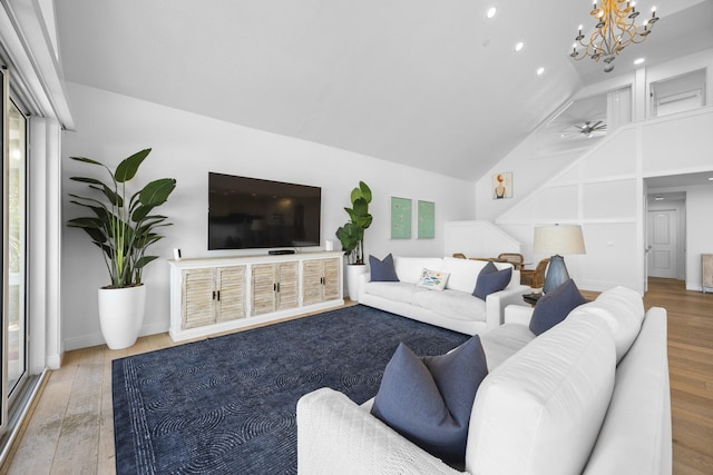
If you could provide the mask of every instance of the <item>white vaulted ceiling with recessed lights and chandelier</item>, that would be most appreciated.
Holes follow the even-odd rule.
[[[648,14],[654,3],[638,4]],[[589,0],[55,8],[68,81],[475,180],[583,86],[631,72],[638,57],[655,65],[713,47],[712,0],[655,4],[654,33],[611,73],[569,58],[577,27],[593,27]]]

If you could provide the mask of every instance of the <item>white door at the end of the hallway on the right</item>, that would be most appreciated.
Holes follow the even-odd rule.
[[[648,211],[648,276],[676,278],[678,211]]]

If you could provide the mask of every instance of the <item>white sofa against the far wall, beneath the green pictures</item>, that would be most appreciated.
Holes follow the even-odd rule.
[[[468,335],[481,334],[502,324],[505,307],[526,305],[522,295],[531,291],[520,285],[520,273],[512,269],[508,286],[482,300],[472,295],[484,260],[452,257],[394,257],[399,281],[371,281],[370,274],[360,276],[358,300],[403,317],[449,328]],[[498,269],[512,267],[496,263]],[[442,291],[418,287],[423,269],[449,274]]]

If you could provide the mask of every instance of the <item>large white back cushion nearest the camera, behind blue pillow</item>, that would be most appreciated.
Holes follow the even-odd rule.
[[[578,474],[614,389],[615,349],[602,319],[566,319],[495,368],[470,419],[473,474]]]

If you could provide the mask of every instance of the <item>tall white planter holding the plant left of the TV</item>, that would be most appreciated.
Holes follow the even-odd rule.
[[[111,349],[128,348],[136,343],[144,324],[146,286],[99,289],[101,335]]]

